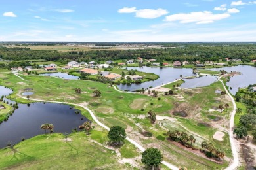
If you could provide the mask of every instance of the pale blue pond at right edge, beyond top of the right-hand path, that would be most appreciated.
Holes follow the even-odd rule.
[[[225,70],[227,72],[238,71],[242,73],[242,75],[236,75],[236,76],[230,77],[230,81],[226,82],[226,85],[232,88],[232,89],[229,89],[232,95],[236,95],[236,92],[238,92],[238,88],[245,88],[250,84],[256,83],[256,67],[251,67],[249,65],[238,65],[238,66],[224,67],[224,68],[210,69],[210,70],[213,70],[213,71]]]

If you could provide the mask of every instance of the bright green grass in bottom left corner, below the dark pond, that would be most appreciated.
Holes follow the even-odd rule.
[[[117,156],[103,146],[89,142],[85,133],[39,135],[0,150],[0,169],[123,169]]]

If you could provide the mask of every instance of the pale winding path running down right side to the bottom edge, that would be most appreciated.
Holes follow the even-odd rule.
[[[234,98],[232,97],[232,95],[228,92],[228,90],[226,89],[225,84],[223,83],[223,81],[221,80],[223,76],[220,76],[218,78],[218,80],[223,84],[224,89],[226,90],[226,93],[228,94],[228,96],[230,97],[232,103],[233,103],[233,110],[232,110],[232,114],[230,116],[230,124],[229,124],[229,140],[230,140],[230,145],[231,145],[231,150],[232,150],[232,154],[233,154],[233,162],[229,165],[229,167],[226,168],[226,170],[233,170],[236,169],[236,167],[238,167],[239,165],[239,157],[238,157],[238,150],[236,148],[236,139],[234,139],[234,135],[233,135],[233,127],[234,127],[234,116],[236,115],[236,102],[234,101]]]

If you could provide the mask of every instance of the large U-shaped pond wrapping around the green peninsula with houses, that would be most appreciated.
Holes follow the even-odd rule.
[[[180,78],[180,75],[192,76],[192,69],[184,69],[184,68],[172,68],[172,67],[127,67],[128,70],[136,69],[138,71],[146,72],[146,73],[154,73],[159,75],[160,78],[154,81],[144,82],[141,84],[120,84],[117,87],[121,90],[137,90],[142,88],[149,88],[150,86],[156,87],[161,84],[166,84],[168,82],[173,82],[176,79]]]

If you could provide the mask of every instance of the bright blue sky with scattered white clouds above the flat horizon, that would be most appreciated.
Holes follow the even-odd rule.
[[[255,41],[256,1],[2,1],[0,41]]]

